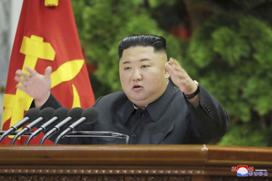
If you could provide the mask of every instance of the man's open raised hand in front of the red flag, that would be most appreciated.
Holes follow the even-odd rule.
[[[14,80],[19,82],[19,84],[16,85],[16,88],[23,90],[28,95],[33,97],[35,99],[35,103],[36,100],[47,100],[50,95],[50,74],[52,71],[52,67],[47,67],[45,69],[44,75],[39,74],[37,71],[29,67],[25,67],[25,69],[29,72],[29,75],[27,75],[20,69],[18,69],[15,73],[16,76]]]

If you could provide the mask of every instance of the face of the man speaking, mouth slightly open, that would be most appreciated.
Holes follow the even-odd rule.
[[[119,62],[122,88],[128,99],[139,107],[157,100],[166,90],[169,73],[164,70],[167,55],[154,53],[153,47],[131,47]]]

